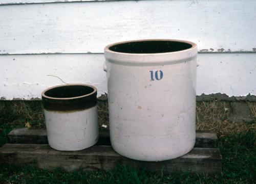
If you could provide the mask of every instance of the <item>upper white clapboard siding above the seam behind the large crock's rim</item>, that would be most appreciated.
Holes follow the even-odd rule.
[[[8,2],[0,4],[0,54],[98,53],[109,43],[144,38],[256,52],[254,0]]]

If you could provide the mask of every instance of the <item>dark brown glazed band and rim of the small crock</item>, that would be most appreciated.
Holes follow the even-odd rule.
[[[72,91],[72,87],[81,88],[78,93],[80,92],[82,95],[72,95],[71,97],[55,97],[56,94],[47,94],[55,90],[56,93],[59,91],[61,96],[61,91],[67,90],[69,87],[71,87],[70,91]],[[89,93],[87,93],[86,90],[88,90]],[[75,90],[73,89],[73,91]],[[41,95],[44,109],[48,111],[81,111],[92,108],[97,104],[97,88],[87,84],[58,85],[44,90]]]

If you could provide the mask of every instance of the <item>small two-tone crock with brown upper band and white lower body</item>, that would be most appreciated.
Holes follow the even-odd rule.
[[[63,86],[72,87],[74,85],[61,85],[53,88]],[[89,85],[82,86],[92,87]],[[75,151],[93,146],[98,140],[96,88],[92,87],[94,91],[91,94],[72,97],[73,99],[53,98],[55,101],[46,101],[52,99],[45,92],[53,88],[45,90],[42,94],[42,96],[45,96],[43,103],[49,145],[61,151]],[[93,95],[94,97],[88,100],[86,95]],[[74,98],[76,98],[76,101],[72,101]],[[79,98],[82,99],[79,100]],[[67,103],[65,100],[71,101]]]

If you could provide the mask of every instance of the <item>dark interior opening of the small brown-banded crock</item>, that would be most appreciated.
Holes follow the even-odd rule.
[[[45,95],[52,98],[72,98],[90,94],[94,91],[89,86],[60,86],[45,92]]]

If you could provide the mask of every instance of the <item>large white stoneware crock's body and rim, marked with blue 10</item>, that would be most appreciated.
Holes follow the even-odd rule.
[[[152,41],[138,40],[133,42]],[[154,41],[154,40],[153,40]],[[163,161],[195,144],[197,46],[130,54],[105,47],[111,144],[135,160]]]

